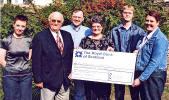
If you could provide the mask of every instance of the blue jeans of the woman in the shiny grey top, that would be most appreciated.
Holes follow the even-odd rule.
[[[13,74],[4,71],[2,84],[4,100],[32,100],[32,73]]]

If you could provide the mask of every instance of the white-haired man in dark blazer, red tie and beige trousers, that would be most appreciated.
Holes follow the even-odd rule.
[[[41,100],[69,100],[73,40],[70,33],[60,30],[64,21],[60,12],[52,12],[48,20],[49,28],[33,38],[34,82],[41,88]]]

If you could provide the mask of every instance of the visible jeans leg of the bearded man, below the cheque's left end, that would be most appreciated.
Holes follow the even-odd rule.
[[[74,80],[75,100],[85,100],[84,81]]]

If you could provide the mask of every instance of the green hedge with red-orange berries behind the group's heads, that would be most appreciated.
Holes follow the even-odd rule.
[[[145,14],[149,9],[158,9],[162,14],[160,28],[168,35],[168,20],[169,16],[164,13],[164,6],[152,4],[152,1],[147,0],[65,0],[65,2],[57,2],[46,7],[32,6],[25,8],[13,5],[4,5],[1,8],[1,35],[5,37],[9,32],[12,32],[13,19],[17,14],[25,14],[28,16],[28,28],[26,34],[33,36],[44,28],[48,27],[48,15],[53,11],[59,11],[64,15],[64,25],[70,24],[70,16],[74,8],[81,8],[84,11],[84,25],[90,27],[90,18],[92,15],[99,14],[104,19],[104,34],[108,34],[110,30],[121,23],[121,9],[124,5],[133,5],[136,9],[133,22],[142,28],[145,28]]]

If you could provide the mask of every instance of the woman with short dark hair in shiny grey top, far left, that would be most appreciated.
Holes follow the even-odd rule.
[[[32,38],[24,35],[27,17],[17,15],[14,33],[0,42],[0,65],[3,69],[3,100],[32,100],[32,73],[29,60]]]

